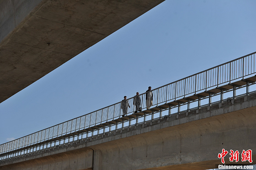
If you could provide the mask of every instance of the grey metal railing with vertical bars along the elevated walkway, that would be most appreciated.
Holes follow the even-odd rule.
[[[244,77],[244,76],[247,76],[247,75],[250,75],[250,74],[253,74],[253,73],[255,73],[255,70],[254,70],[254,72],[252,73],[252,71],[251,71],[251,73],[249,74],[249,71],[248,71],[248,74],[247,75],[244,75],[244,58],[246,58],[246,57],[249,57],[249,56],[252,56],[252,55],[254,55],[256,52],[253,52],[253,53],[250,53],[250,54],[248,54],[248,55],[244,55],[243,57],[239,57],[239,58],[236,58],[236,59],[234,59],[234,60],[231,60],[231,61],[229,61],[229,62],[226,62],[226,63],[223,63],[223,64],[220,64],[220,65],[217,65],[217,66],[215,66],[215,67],[212,67],[212,68],[209,68],[209,69],[206,69],[206,70],[204,70],[204,71],[201,71],[201,72],[199,72],[199,73],[196,73],[196,74],[193,74],[193,75],[191,75],[191,76],[187,76],[187,77],[185,77],[185,78],[183,78],[183,79],[179,79],[179,80],[176,80],[176,81],[174,81],[174,82],[171,82],[171,83],[168,83],[168,84],[166,84],[166,85],[163,85],[163,86],[161,86],[161,87],[158,87],[158,88],[155,88],[155,89],[153,89],[153,90],[151,90],[152,92],[154,92],[154,99],[155,99],[155,101],[156,101],[156,103],[154,103],[153,105],[158,105],[158,104],[160,104],[160,103],[164,103],[164,102],[167,102],[167,101],[170,101],[170,100],[173,100],[173,99],[176,99],[177,97],[176,97],[176,94],[177,93],[181,93],[182,95],[181,96],[178,96],[178,98],[179,97],[182,97],[182,96],[186,96],[187,94],[193,94],[193,93],[196,93],[197,91],[201,91],[201,90],[205,90],[205,89],[207,89],[207,88],[210,88],[210,87],[214,87],[214,86],[218,86],[218,85],[220,85],[220,84],[222,84],[222,83],[225,83],[225,82],[228,82],[228,81],[232,81],[231,80],[231,78],[229,78],[229,80],[227,79],[227,81],[225,80],[225,81],[223,81],[223,75],[222,75],[222,82],[221,81],[219,81],[219,78],[221,77],[219,77],[219,68],[220,67],[223,67],[222,68],[222,74],[223,74],[223,70],[224,70],[224,66],[225,66],[225,79],[226,79],[226,65],[229,65],[229,67],[230,67],[230,69],[229,69],[229,74],[227,73],[227,76],[229,75],[230,77],[231,77],[231,64],[233,63],[233,62],[236,62],[236,63],[234,63],[234,68],[235,68],[235,64],[237,64],[237,61],[239,62],[239,60],[241,60],[241,59],[243,59],[243,70],[242,70],[242,72],[243,72],[243,76],[242,76],[242,74],[241,75],[239,75],[238,76],[238,78],[241,78],[241,77]],[[251,57],[252,58],[252,57]],[[247,60],[247,59],[246,59]],[[248,62],[249,62],[249,59],[248,59]],[[255,66],[255,58],[254,58],[254,60],[253,60],[253,66]],[[239,63],[240,64],[240,63]],[[238,65],[239,65],[238,64]],[[240,65],[239,65],[240,66]],[[241,69],[240,67],[238,66],[238,69]],[[242,66],[242,65],[241,65]],[[218,73],[217,73],[217,84],[214,84],[214,85],[210,85],[209,87],[207,86],[207,75],[209,74],[209,73],[207,73],[208,71],[211,71],[211,70],[214,70],[214,69],[216,69],[216,68],[218,68]],[[237,74],[237,66],[236,66],[236,70],[233,68],[233,65],[232,65],[232,71],[234,71],[234,75],[235,74]],[[245,67],[246,69],[247,69],[247,66]],[[252,68],[252,59],[251,59],[251,68]],[[228,68],[227,68],[227,70],[228,70]],[[220,70],[221,71],[221,70]],[[238,74],[240,74],[240,71],[241,70],[239,70],[239,73]],[[216,70],[215,70],[215,73],[216,73]],[[220,72],[221,73],[221,72]],[[200,90],[198,89],[198,88],[196,88],[198,85],[199,85],[199,81],[196,81],[197,80],[197,78],[199,79],[199,75],[200,74],[205,74],[206,75],[206,80],[205,80],[205,82],[203,82],[203,83],[205,83],[205,87],[203,87],[202,89],[201,89],[201,76],[200,76]],[[197,75],[198,75],[198,77],[197,77]],[[213,74],[214,75],[214,74]],[[195,77],[194,77],[195,76]],[[233,76],[233,74],[232,74],[232,76]],[[190,80],[190,78],[191,78],[191,82],[189,82],[189,83],[191,83],[191,84],[189,84],[188,83],[188,86],[186,86],[187,84],[186,84],[186,80],[187,79],[189,79]],[[203,79],[204,79],[205,77],[203,77]],[[212,78],[212,77],[211,77]],[[238,79],[237,77],[236,78],[234,78],[233,80],[236,80],[236,79]],[[192,89],[192,79],[193,79],[193,90],[191,90],[191,91],[188,91],[188,93],[185,93],[185,91],[186,91],[186,89],[185,88],[187,88],[187,87],[191,87],[191,89]],[[209,79],[209,77],[208,77],[208,79]],[[214,78],[213,78],[214,79]],[[185,81],[185,83],[184,83],[184,81]],[[204,80],[203,80],[204,81]],[[179,82],[183,82],[183,87],[182,87],[182,85],[181,85],[181,89],[182,90],[184,90],[184,93],[182,92],[182,91],[179,91],[179,92],[177,92],[177,83],[179,83]],[[195,83],[195,84],[194,84]],[[208,82],[209,83],[209,82]],[[215,74],[215,83],[216,83],[216,74]],[[168,90],[168,92],[170,92],[170,93],[172,93],[173,91],[170,89],[170,88],[174,88],[174,84],[175,84],[175,94],[174,94],[174,96],[175,97],[170,97],[170,98],[168,98],[168,100],[167,100],[167,97],[169,97],[169,96],[167,96],[167,90]],[[181,84],[181,83],[180,83]],[[171,87],[173,85],[173,87]],[[204,86],[204,85],[203,85]],[[162,90],[162,88],[165,88],[164,90]],[[169,88],[169,89],[168,89]],[[183,89],[184,88],[184,89]],[[159,96],[159,89],[160,89],[160,91],[162,92],[162,91],[166,91],[166,96],[165,96],[165,94],[164,94],[164,98],[166,97],[166,100],[165,99],[163,99],[163,100],[161,100],[160,102],[159,102],[159,98],[158,98],[158,96]],[[178,90],[180,90],[180,89],[178,89]],[[156,98],[156,92],[157,92],[157,98]],[[141,102],[141,104],[143,105],[143,102],[144,102],[144,105],[146,105],[146,103],[145,103],[145,95],[146,95],[146,93],[148,93],[148,92],[145,92],[145,93],[142,93],[142,94],[140,94],[139,96],[142,98],[142,102]],[[173,94],[170,94],[170,95],[173,95]],[[126,99],[128,102],[130,102],[130,103],[132,103],[132,99],[134,99],[134,97],[130,97],[129,99]],[[144,99],[144,101],[143,101],[143,99]],[[120,101],[120,102],[117,102],[117,103],[115,103],[115,104],[112,104],[112,105],[109,105],[109,106],[107,106],[107,107],[104,107],[104,108],[101,108],[101,109],[99,109],[99,110],[96,110],[96,111],[94,111],[94,112],[90,112],[90,113],[87,113],[87,114],[85,114],[85,115],[82,115],[82,116],[78,116],[78,117],[76,117],[76,118],[73,118],[73,119],[70,119],[70,120],[68,120],[68,121],[65,121],[65,122],[62,122],[62,123],[59,123],[59,124],[56,124],[56,125],[54,125],[54,126],[51,126],[51,127],[48,127],[48,128],[45,128],[45,129],[43,129],[43,130],[39,130],[39,131],[37,131],[37,132],[34,132],[34,133],[31,133],[31,134],[29,134],[29,135],[26,135],[26,136],[23,136],[23,137],[21,137],[21,138],[18,138],[18,139],[15,139],[15,140],[13,140],[13,141],[9,141],[9,142],[6,142],[6,143],[3,143],[3,144],[1,144],[0,145],[0,154],[2,154],[2,153],[5,153],[5,152],[8,152],[8,151],[12,151],[12,150],[15,150],[15,149],[18,149],[18,148],[22,148],[22,147],[25,147],[25,146],[29,146],[29,145],[32,145],[32,144],[35,144],[35,143],[39,143],[39,142],[42,142],[42,141],[46,141],[46,140],[49,140],[49,139],[51,139],[51,138],[54,138],[54,137],[58,137],[58,136],[62,136],[62,135],[64,135],[64,134],[69,134],[69,133],[72,133],[72,132],[75,132],[75,131],[78,131],[78,130],[81,130],[81,129],[85,129],[86,127],[92,127],[92,126],[95,126],[96,124],[99,124],[99,123],[102,123],[102,122],[105,122],[105,121],[108,121],[108,120],[111,120],[111,119],[114,119],[114,118],[117,118],[117,117],[120,117],[121,115],[120,114],[118,114],[118,116],[115,116],[115,106],[117,106],[118,107],[118,111],[119,111],[119,109],[121,110],[121,107],[120,107],[120,105],[121,105],[121,103],[122,103],[122,101]],[[102,117],[103,117],[103,111],[104,111],[104,109],[112,109],[111,107],[114,107],[114,112],[113,112],[113,116],[111,116],[110,118],[108,118],[108,113],[107,113],[107,117],[106,117],[106,119],[104,119],[104,120],[102,120]],[[144,107],[145,108],[145,107]],[[97,113],[98,112],[102,112],[101,113],[101,121],[100,122],[97,122],[97,119],[99,118],[99,116],[97,117]],[[133,110],[134,111],[134,110]],[[132,112],[133,112],[132,111]],[[107,111],[107,112],[109,112],[109,111]],[[132,112],[129,112],[129,113],[132,113]],[[93,121],[92,122],[92,116],[94,116],[93,114],[94,113],[96,113],[96,116],[95,116],[95,122]],[[112,113],[111,113],[112,114]],[[89,125],[88,126],[85,126],[86,125],[86,116],[87,115],[90,115],[91,117],[90,117],[90,119],[89,119]],[[84,123],[84,127],[80,127],[81,126],[81,122],[80,122],[80,128],[75,128],[75,130],[72,130],[72,127],[73,127],[73,121],[76,121],[76,120],[78,120],[79,118],[80,118],[80,121],[81,121],[81,119],[83,118],[83,117],[85,117],[84,119],[84,121],[85,121],[85,123]],[[72,121],[71,122],[71,124],[70,124],[70,130],[69,131],[64,131],[63,132],[63,127],[64,126],[67,126],[67,128],[66,129],[68,129],[68,126],[69,126],[69,122],[70,121]],[[65,125],[65,124],[67,124],[67,125]],[[55,129],[55,127],[56,126],[58,126],[58,129],[59,129],[59,126],[62,126],[62,133],[60,133],[60,134],[58,134],[58,132],[57,132],[57,134],[55,134],[54,135],[54,133],[55,132],[52,132],[52,134],[51,134],[51,136],[50,136],[50,129],[51,128],[53,128],[53,130]],[[75,126],[77,126],[77,122],[75,123]],[[49,131],[49,134],[48,134],[48,137],[47,137],[47,135],[46,135],[46,132],[47,132],[47,130]],[[42,132],[44,132],[45,131],[45,135],[42,135],[41,134],[41,137],[40,137],[40,140],[39,140],[39,134],[40,133],[42,133]],[[28,137],[28,140],[29,140],[29,138],[30,138],[30,136],[31,136],[31,138],[32,138],[32,136],[34,135],[34,137],[36,137],[37,136],[37,141],[34,139],[34,141],[32,142],[32,139],[31,139],[31,141],[28,141],[27,142],[27,137]],[[24,138],[25,138],[25,141],[24,141]],[[43,139],[44,138],[44,139]],[[21,139],[22,139],[22,144],[21,144],[21,146],[20,146],[20,141],[21,141]],[[17,141],[17,143],[16,143],[16,148],[14,147],[14,145],[15,144],[13,144],[13,143],[15,143],[15,141]],[[18,141],[19,141],[19,144],[18,144]],[[24,143],[24,144],[23,144]],[[9,145],[8,145],[9,144]],[[17,145],[19,145],[18,147],[17,147]],[[9,147],[9,150],[7,150],[6,148],[7,147]]]

